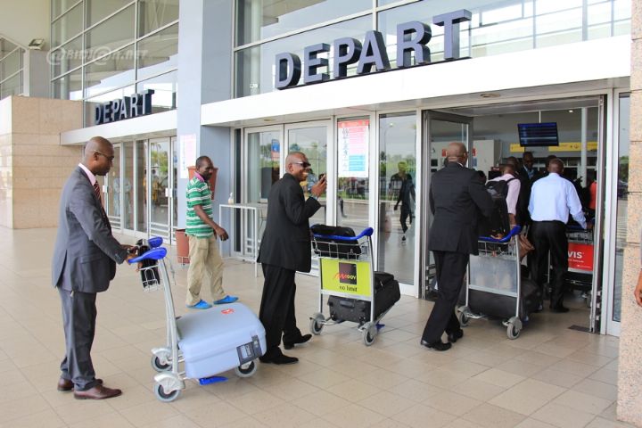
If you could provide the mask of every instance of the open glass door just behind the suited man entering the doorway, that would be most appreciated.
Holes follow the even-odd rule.
[[[450,143],[463,143],[470,150],[473,146],[473,118],[439,111],[424,111],[424,144],[422,144],[422,177],[424,194],[430,192],[431,177],[434,172],[444,167],[446,148]],[[470,165],[467,165],[470,167]],[[422,239],[421,251],[422,278],[419,295],[424,299],[434,297],[432,286],[435,277],[435,263],[432,252],[428,251],[428,233],[432,226],[432,211],[429,198],[422,200]]]

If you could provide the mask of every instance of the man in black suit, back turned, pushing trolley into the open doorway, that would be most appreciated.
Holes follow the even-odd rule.
[[[448,164],[432,175],[430,205],[434,216],[428,237],[437,268],[438,296],[424,328],[421,344],[432,350],[449,350],[462,332],[455,306],[470,254],[477,254],[478,210],[490,217],[493,202],[473,169],[465,168],[464,144],[450,143]],[[441,334],[449,342],[441,342]]]

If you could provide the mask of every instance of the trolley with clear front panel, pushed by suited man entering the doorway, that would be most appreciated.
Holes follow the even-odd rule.
[[[479,238],[479,255],[470,257],[465,305],[457,309],[462,326],[470,318],[501,317],[508,339],[519,337],[528,316],[522,304],[520,231],[520,226],[514,226],[502,239]]]

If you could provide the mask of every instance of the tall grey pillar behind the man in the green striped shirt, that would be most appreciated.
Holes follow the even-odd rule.
[[[178,29],[177,142],[179,164],[182,142],[196,141],[196,157],[210,156],[218,168],[214,195],[214,220],[218,204],[227,203],[232,178],[232,135],[230,128],[201,126],[201,105],[232,97],[233,3],[231,0],[190,0],[181,2]],[[185,227],[185,189],[187,178],[178,171],[178,227]],[[228,224],[221,226],[228,228]]]

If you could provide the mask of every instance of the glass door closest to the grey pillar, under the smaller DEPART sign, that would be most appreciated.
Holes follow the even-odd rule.
[[[171,214],[171,174],[169,169],[170,138],[149,140],[151,171],[149,185],[150,221],[149,234],[169,240]]]

